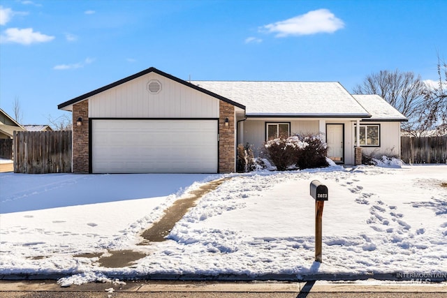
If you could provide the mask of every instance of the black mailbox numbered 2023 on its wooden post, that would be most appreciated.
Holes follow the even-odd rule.
[[[323,207],[328,200],[328,187],[314,180],[310,183],[310,195],[315,200],[315,260],[321,262]]]

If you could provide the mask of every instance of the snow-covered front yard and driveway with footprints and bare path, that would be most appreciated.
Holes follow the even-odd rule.
[[[201,184],[231,177],[175,225],[140,233]],[[328,186],[323,263],[314,262],[310,181]],[[447,165],[332,166],[250,174],[0,174],[0,275],[63,283],[148,274],[446,274]],[[147,257],[105,268],[81,253]]]

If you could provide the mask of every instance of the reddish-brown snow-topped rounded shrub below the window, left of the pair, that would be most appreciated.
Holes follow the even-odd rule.
[[[265,153],[277,170],[284,171],[295,164],[298,151],[307,147],[309,144],[302,142],[298,136],[278,137],[265,142]]]

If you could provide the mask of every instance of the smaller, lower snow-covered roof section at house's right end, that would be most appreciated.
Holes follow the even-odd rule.
[[[354,98],[371,114],[367,121],[408,121],[404,115],[376,94],[353,95]]]

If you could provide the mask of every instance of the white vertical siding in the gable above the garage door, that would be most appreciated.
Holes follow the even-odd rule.
[[[158,80],[159,94],[147,91]],[[219,100],[156,73],[148,73],[89,98],[91,118],[219,118]]]

